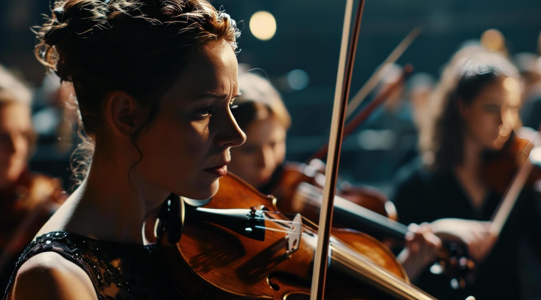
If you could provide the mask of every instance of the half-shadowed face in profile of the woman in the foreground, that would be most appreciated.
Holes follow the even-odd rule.
[[[230,111],[238,94],[231,45],[202,45],[137,140],[142,160],[133,171],[157,188],[184,197],[212,197],[227,170],[229,149],[246,139]]]

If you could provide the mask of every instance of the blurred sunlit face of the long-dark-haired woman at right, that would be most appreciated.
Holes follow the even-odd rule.
[[[462,106],[466,131],[485,149],[500,149],[512,129],[520,126],[521,88],[512,77],[487,85],[470,105]]]

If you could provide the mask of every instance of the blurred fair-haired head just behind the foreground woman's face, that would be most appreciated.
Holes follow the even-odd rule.
[[[291,117],[278,90],[265,78],[239,74],[241,96],[232,110],[246,142],[231,149],[229,169],[250,185],[270,194],[286,158],[286,135]]]

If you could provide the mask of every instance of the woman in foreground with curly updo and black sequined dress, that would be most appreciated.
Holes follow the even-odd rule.
[[[67,0],[36,56],[72,82],[94,153],[19,259],[8,299],[179,299],[155,257],[170,193],[212,197],[229,149],[235,22],[204,0]]]

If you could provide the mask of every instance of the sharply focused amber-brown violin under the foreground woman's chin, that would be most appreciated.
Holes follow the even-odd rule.
[[[174,233],[161,224],[158,243],[179,290],[190,299],[308,299],[318,227],[301,214],[280,212],[276,203],[233,174],[220,179],[203,206],[169,199],[167,210],[181,212],[182,234],[170,241]],[[364,233],[333,229],[327,260],[325,298],[434,299]]]

